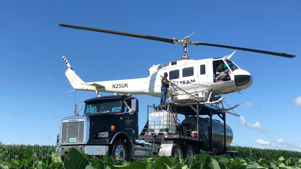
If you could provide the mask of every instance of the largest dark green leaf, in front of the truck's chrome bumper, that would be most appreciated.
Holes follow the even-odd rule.
[[[67,153],[64,161],[65,169],[83,169],[89,164],[87,158],[74,148]]]

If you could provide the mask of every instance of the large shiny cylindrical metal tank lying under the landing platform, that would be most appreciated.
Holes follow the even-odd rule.
[[[191,124],[191,128],[193,130],[197,129],[196,116],[187,117],[182,121],[182,123]],[[200,137],[204,139],[204,142],[206,142],[204,146],[207,147],[208,144],[205,136],[209,140],[210,118],[199,117],[199,130],[201,133],[203,133],[202,135],[200,134]],[[224,123],[215,119],[212,119],[212,140],[213,140],[213,147],[215,148],[224,147]],[[232,129],[228,124],[226,124],[226,146],[227,147],[231,144],[232,140],[233,140]]]

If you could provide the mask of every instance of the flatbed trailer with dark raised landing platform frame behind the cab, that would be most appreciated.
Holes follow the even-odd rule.
[[[197,153],[197,154],[200,153],[200,149],[202,149],[203,151],[205,151],[206,153],[208,153],[210,155],[228,154],[228,155],[231,155],[232,157],[238,156],[238,151],[227,150],[227,133],[226,133],[226,131],[227,131],[226,130],[227,111],[215,109],[216,107],[214,107],[214,106],[211,107],[211,106],[207,106],[207,105],[200,104],[200,103],[189,103],[189,104],[168,103],[167,105],[147,106],[147,116],[149,115],[148,112],[149,112],[150,108],[154,109],[154,111],[168,110],[170,112],[175,112],[177,114],[184,115],[185,118],[192,117],[192,116],[200,117],[200,115],[208,115],[210,126],[212,126],[213,121],[216,121],[216,120],[212,119],[213,115],[219,116],[223,121],[223,123],[222,123],[223,130],[220,131],[220,132],[222,132],[222,135],[223,135],[222,136],[223,137],[223,140],[222,140],[223,147],[216,147],[214,145],[213,128],[212,127],[209,127],[209,131],[208,131],[208,133],[206,133],[207,137],[202,132],[199,132],[199,133],[203,137],[199,136],[198,134],[191,136],[189,134],[189,132],[184,132],[184,134],[180,134],[179,132],[177,132],[178,134],[166,134],[166,133],[162,134],[162,133],[160,133],[160,134],[150,135],[150,134],[148,134],[150,132],[149,127],[148,127],[149,120],[147,120],[143,130],[141,131],[141,134],[139,135],[139,139],[144,140],[147,143],[159,145],[160,149],[164,149],[164,146],[167,146],[170,144],[181,145],[183,154],[186,154],[186,156],[187,156],[187,152],[185,152],[185,149],[188,146],[191,146],[195,150],[195,153]],[[190,124],[183,124],[182,130],[187,131],[187,129],[189,128],[189,125]],[[200,121],[199,121],[199,118],[196,118],[196,130],[197,131],[201,131],[201,129],[199,127],[200,127]],[[179,128],[181,128],[181,124],[178,123],[177,131],[179,130]],[[232,139],[231,139],[231,141],[232,141]],[[204,146],[204,144],[207,144],[207,146]],[[166,153],[167,150],[168,150],[168,153]],[[164,151],[165,151],[164,155],[167,155],[167,156],[173,155],[172,149],[165,148]],[[159,152],[160,152],[160,150],[159,150]],[[163,153],[159,153],[159,155],[163,155]]]

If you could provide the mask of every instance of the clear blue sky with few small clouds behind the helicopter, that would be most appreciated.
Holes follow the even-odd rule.
[[[86,82],[143,78],[153,63],[182,57],[182,47],[146,39],[59,27],[90,26],[166,38],[232,45],[297,55],[293,59],[237,51],[231,58],[253,75],[253,85],[225,95],[243,117],[227,116],[232,145],[301,151],[300,1],[4,1],[0,3],[0,141],[54,145],[60,119],[74,100],[94,97],[65,77],[65,55]],[[195,60],[234,50],[191,46]],[[146,105],[139,99],[139,128]],[[216,117],[218,118],[218,117]]]

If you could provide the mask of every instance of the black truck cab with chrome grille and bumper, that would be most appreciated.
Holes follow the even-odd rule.
[[[64,160],[73,147],[88,155],[129,159],[136,139],[138,100],[117,94],[95,97],[85,100],[83,115],[75,111],[74,116],[61,120],[56,155]]]

